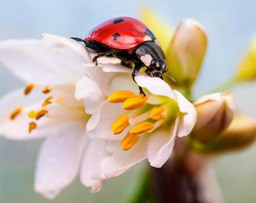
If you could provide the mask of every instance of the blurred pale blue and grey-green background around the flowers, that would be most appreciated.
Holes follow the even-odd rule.
[[[83,38],[95,25],[116,16],[139,18],[149,7],[172,29],[182,18],[201,22],[208,35],[208,50],[195,86],[196,96],[206,94],[231,77],[256,34],[254,0],[1,0],[0,39],[42,38],[42,33]],[[256,82],[234,88],[238,109],[256,117]],[[0,96],[24,86],[0,66]],[[0,109],[1,113],[1,109]],[[33,191],[34,166],[41,140],[8,141],[0,138],[0,202],[124,202],[137,189],[141,164],[90,194],[78,178],[54,199]],[[256,145],[226,154],[214,162],[225,202],[256,202]],[[126,181],[126,180],[132,181]]]

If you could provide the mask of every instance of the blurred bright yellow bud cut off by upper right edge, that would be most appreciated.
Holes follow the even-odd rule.
[[[256,38],[254,38],[249,50],[238,66],[235,78],[238,81],[250,81],[256,79]]]

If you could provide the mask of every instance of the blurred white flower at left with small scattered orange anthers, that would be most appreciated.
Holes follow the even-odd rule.
[[[88,137],[89,115],[74,98],[74,88],[91,58],[82,44],[50,34],[42,41],[2,41],[0,52],[0,62],[27,83],[25,90],[1,98],[0,134],[14,140],[46,137],[34,190],[55,197],[77,175]],[[90,154],[90,141],[87,145]]]

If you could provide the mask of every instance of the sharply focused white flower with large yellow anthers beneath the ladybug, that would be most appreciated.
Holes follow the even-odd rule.
[[[90,76],[77,83],[75,96],[84,102],[86,113],[93,114],[87,133],[101,144],[83,161],[94,162],[93,175],[82,171],[83,184],[101,184],[146,158],[150,165],[161,167],[170,157],[175,137],[186,136],[193,128],[194,105],[160,78],[135,78],[146,92],[144,97],[136,96],[138,85],[127,68],[87,66],[86,72]]]

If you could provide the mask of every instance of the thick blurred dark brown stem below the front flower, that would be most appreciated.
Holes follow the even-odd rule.
[[[162,168],[152,167],[157,202],[222,202],[214,174],[210,171],[211,158],[192,153],[184,148],[184,140],[179,142],[174,156]]]

